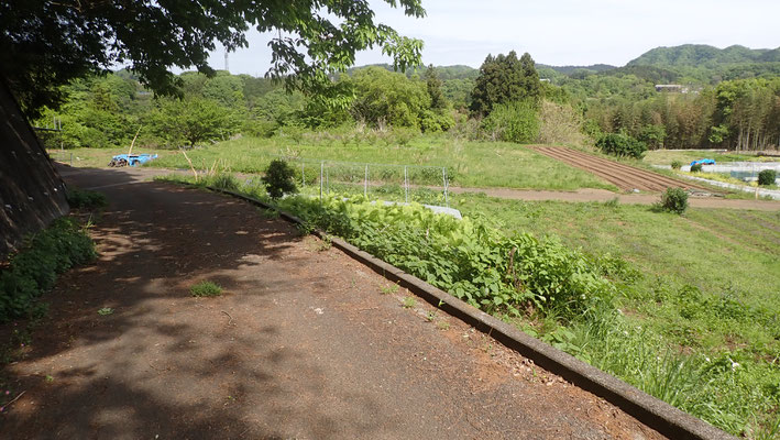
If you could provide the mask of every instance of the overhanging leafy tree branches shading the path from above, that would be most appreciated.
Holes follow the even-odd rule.
[[[385,2],[425,15],[420,0]],[[419,64],[422,48],[375,23],[369,0],[10,0],[0,2],[0,76],[31,117],[62,101],[59,86],[117,64],[129,63],[155,92],[178,95],[169,67],[212,74],[207,58],[216,43],[245,47],[250,26],[277,32],[268,76],[342,105],[330,75],[352,65],[355,52],[382,47],[404,70]]]

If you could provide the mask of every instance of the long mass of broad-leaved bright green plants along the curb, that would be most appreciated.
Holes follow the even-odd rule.
[[[366,252],[487,311],[572,318],[612,304],[613,285],[579,251],[529,234],[505,237],[482,221],[455,220],[421,206],[384,207],[353,197],[281,202],[309,229],[341,235]]]

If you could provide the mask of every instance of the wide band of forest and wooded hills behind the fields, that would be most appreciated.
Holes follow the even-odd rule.
[[[64,146],[176,147],[300,130],[450,132],[469,139],[595,144],[616,133],[646,148],[763,150],[780,144],[780,50],[659,47],[624,67],[536,65],[488,55],[480,69],[391,65],[331,78],[323,102],[265,78],[185,73],[183,97],[154,97],[127,70],[79,79],[40,124],[62,118]],[[680,85],[673,92],[656,85]]]

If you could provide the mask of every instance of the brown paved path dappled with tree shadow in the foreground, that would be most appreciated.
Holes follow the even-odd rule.
[[[111,200],[101,257],[6,369],[25,393],[3,438],[660,438],[254,207],[124,170],[67,180]],[[190,297],[207,278],[226,294]]]

